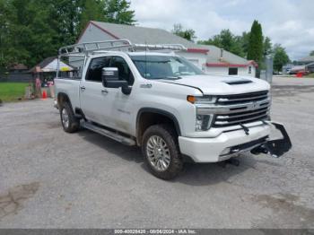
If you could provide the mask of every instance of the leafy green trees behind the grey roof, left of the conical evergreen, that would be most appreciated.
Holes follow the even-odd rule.
[[[198,43],[214,45],[218,48],[230,51],[240,57],[245,57],[245,53],[242,48],[242,38],[240,36],[233,35],[231,30],[222,30],[220,34],[214,35],[212,39],[198,41]]]

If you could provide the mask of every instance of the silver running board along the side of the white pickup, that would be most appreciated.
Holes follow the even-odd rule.
[[[90,122],[83,121],[81,126],[83,126],[86,129],[89,129],[93,132],[97,132],[100,135],[105,135],[105,136],[109,137],[110,139],[118,141],[119,143],[126,144],[129,146],[135,145],[135,140],[133,140],[131,138],[127,138],[126,136],[123,136],[123,135],[119,135],[118,133],[109,131],[107,129],[101,128],[100,126],[93,125]]]

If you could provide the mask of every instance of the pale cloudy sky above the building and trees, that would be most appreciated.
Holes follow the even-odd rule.
[[[314,0],[132,0],[139,26],[171,30],[174,23],[208,39],[222,29],[249,31],[256,19],[263,34],[286,48],[291,59],[314,50]]]

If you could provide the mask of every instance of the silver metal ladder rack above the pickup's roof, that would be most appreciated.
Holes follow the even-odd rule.
[[[121,50],[126,49],[127,51],[185,51],[187,50],[181,44],[132,44],[128,39],[117,39],[117,40],[104,40],[104,41],[93,41],[83,42],[80,44],[74,44],[59,48],[59,57],[71,56],[71,57],[84,57],[95,52],[106,52],[110,50]]]

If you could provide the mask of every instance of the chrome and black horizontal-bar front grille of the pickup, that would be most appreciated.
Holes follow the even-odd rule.
[[[217,97],[213,126],[235,126],[266,119],[269,115],[268,91]]]

